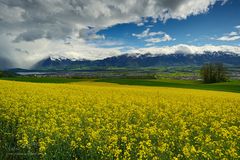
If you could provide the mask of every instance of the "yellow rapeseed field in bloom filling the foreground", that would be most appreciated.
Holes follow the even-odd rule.
[[[240,94],[0,81],[0,159],[240,159]]]

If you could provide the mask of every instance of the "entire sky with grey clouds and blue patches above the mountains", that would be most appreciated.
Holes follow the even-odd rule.
[[[240,0],[0,0],[0,68],[204,51],[240,54]]]

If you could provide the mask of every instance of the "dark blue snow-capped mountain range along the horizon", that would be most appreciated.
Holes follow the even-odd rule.
[[[123,54],[101,60],[70,59],[62,56],[50,56],[33,66],[33,69],[81,69],[81,68],[136,68],[160,66],[200,66],[209,62],[221,62],[225,65],[240,66],[240,55],[227,52],[204,52],[202,54]]]

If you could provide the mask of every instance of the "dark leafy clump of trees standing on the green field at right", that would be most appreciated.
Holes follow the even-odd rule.
[[[201,68],[204,83],[226,82],[227,72],[222,63],[207,63]]]

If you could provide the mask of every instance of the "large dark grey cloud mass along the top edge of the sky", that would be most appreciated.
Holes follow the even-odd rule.
[[[219,0],[7,0],[0,3],[1,21],[11,20],[14,27],[5,24],[1,28],[18,30],[19,34],[22,30],[39,28],[50,34],[51,39],[62,38],[58,36],[61,32],[72,36],[88,26],[102,29],[122,23],[145,22],[146,17],[164,21],[186,19],[207,12],[216,1]]]

